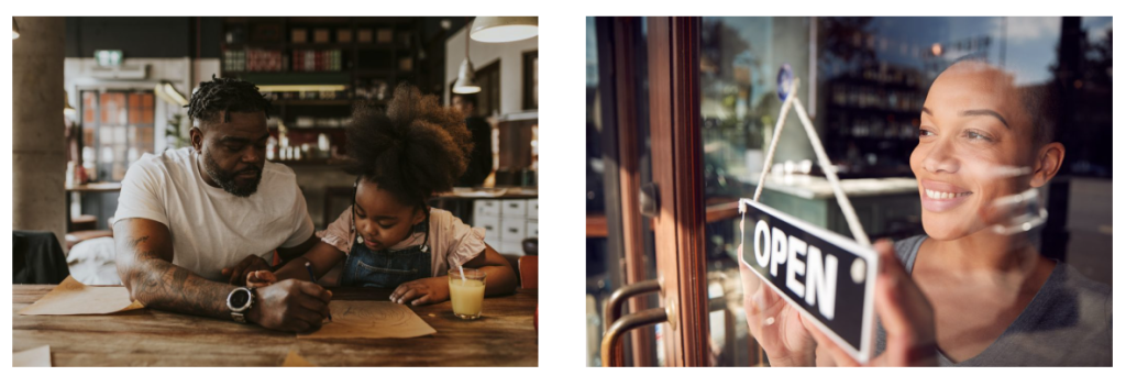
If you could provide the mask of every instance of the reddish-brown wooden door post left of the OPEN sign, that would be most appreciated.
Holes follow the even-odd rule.
[[[650,138],[667,366],[709,366],[698,17],[649,18]]]

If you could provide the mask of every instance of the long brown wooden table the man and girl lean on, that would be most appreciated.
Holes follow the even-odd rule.
[[[230,321],[142,309],[104,316],[24,316],[53,285],[12,286],[12,351],[51,345],[55,367],[280,366],[291,350],[318,366],[521,366],[538,363],[536,290],[484,300],[463,321],[449,302],[411,307],[438,333],[414,339],[301,339]],[[386,300],[391,289],[332,288],[333,299]]]

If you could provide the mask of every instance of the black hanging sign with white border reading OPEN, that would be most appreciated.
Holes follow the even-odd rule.
[[[740,199],[739,212],[742,264],[867,362],[875,334],[875,250],[750,199]]]

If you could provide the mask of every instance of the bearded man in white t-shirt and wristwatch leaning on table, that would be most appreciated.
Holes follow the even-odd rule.
[[[117,272],[148,307],[311,331],[331,294],[307,281],[248,289],[276,250],[314,243],[293,170],[266,162],[270,104],[249,82],[215,79],[191,96],[191,147],[145,154],[122,181],[114,223]]]

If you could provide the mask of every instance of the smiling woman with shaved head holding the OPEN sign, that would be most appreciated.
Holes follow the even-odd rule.
[[[1047,101],[975,61],[935,80],[911,154],[927,234],[894,252],[875,246],[874,363],[1110,366],[1110,288],[1039,255],[1012,220],[1027,206],[1008,205],[1063,162]],[[751,333],[772,364],[855,364],[745,268],[743,281]]]

